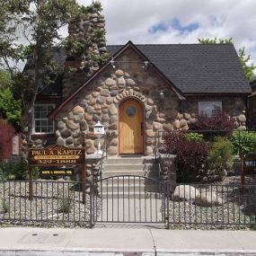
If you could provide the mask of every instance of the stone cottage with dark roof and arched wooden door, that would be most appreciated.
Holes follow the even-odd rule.
[[[76,26],[78,31],[82,27]],[[107,49],[112,58],[89,79],[83,72],[59,74],[57,86],[40,92],[33,119],[36,146],[82,146],[85,134],[86,152],[93,154],[98,121],[107,129],[112,155],[154,154],[159,130],[188,129],[199,114],[225,111],[236,128],[245,128],[252,90],[233,44],[128,41]],[[104,43],[93,51],[105,52]],[[81,57],[66,59],[63,49],[54,54],[57,66],[81,65]]]

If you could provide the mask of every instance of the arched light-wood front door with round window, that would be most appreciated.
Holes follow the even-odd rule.
[[[135,100],[119,106],[119,154],[143,154],[143,107]]]

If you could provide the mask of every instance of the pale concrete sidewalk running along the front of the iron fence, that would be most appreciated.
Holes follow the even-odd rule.
[[[256,232],[4,227],[0,255],[256,255]]]

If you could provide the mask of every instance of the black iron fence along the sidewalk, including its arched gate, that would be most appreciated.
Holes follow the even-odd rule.
[[[174,185],[121,176],[102,180],[100,191],[90,189],[83,203],[80,182],[33,181],[30,200],[28,181],[0,181],[0,223],[255,225],[255,185]]]

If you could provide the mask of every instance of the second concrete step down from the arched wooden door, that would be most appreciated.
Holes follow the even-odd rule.
[[[134,163],[134,164],[124,164],[124,163],[104,163],[104,172],[109,171],[147,171],[147,170],[157,170],[157,165],[152,163]]]

